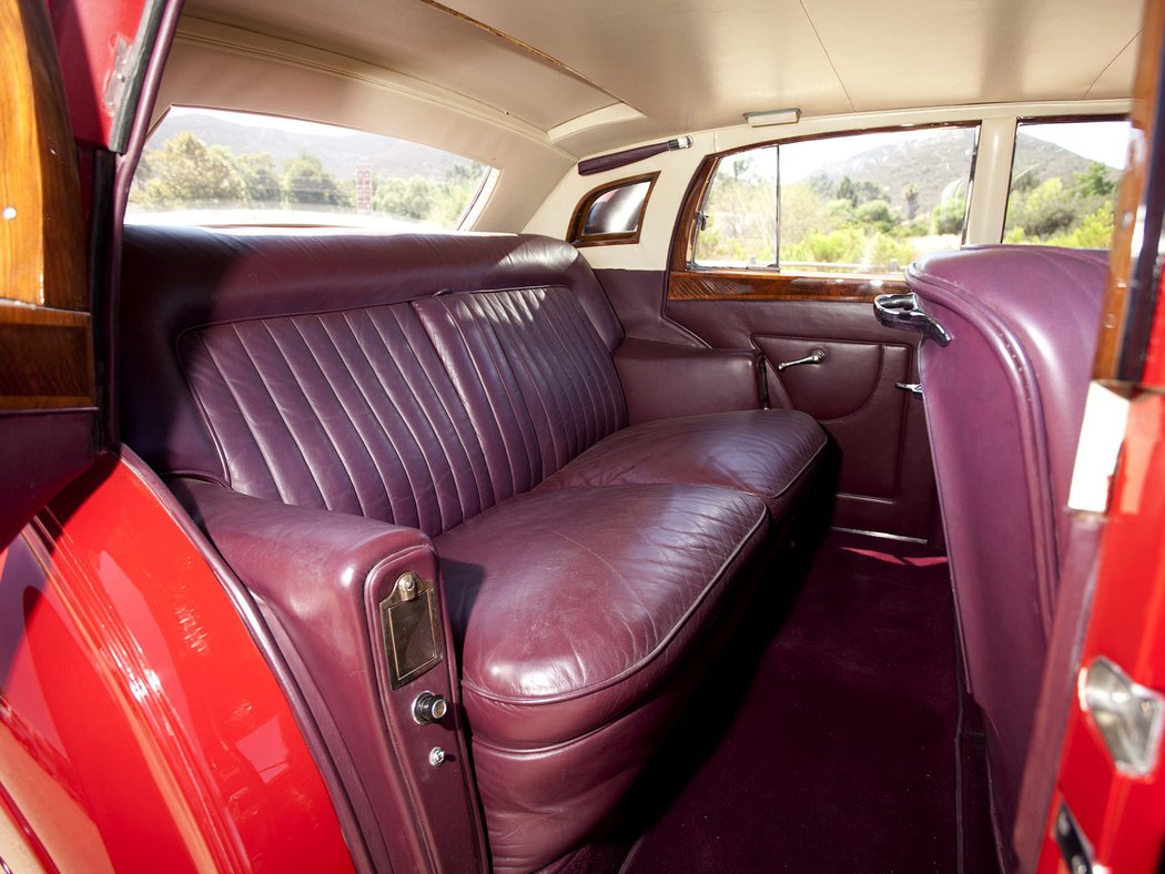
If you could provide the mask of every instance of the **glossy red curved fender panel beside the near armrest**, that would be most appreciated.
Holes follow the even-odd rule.
[[[0,806],[28,836],[0,852],[61,871],[352,869],[270,669],[128,466],[100,459],[0,554]]]

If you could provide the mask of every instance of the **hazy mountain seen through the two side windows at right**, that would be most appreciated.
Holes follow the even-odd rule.
[[[1082,172],[1094,161],[1068,151],[1033,136],[1022,136],[1019,140],[1015,172],[1032,172],[1038,182],[1060,177],[1065,188],[1075,174]],[[903,191],[911,182],[918,185],[918,202],[922,204],[938,203],[942,189],[955,179],[967,178],[967,163],[970,160],[965,143],[948,138],[935,136],[926,140],[897,142],[868,149],[852,158],[831,168],[825,175],[836,184],[848,176],[853,182],[873,182],[890,192],[890,205],[904,210],[906,205]],[[1107,168],[1113,181],[1121,177],[1121,171]]]

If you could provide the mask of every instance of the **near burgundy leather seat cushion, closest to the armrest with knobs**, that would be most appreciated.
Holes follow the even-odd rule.
[[[750,495],[619,486],[529,493],[442,535],[475,738],[555,743],[642,703],[765,528]]]

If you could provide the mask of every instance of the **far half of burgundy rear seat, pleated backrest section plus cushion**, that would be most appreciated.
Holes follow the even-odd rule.
[[[796,503],[806,481],[800,473],[822,445],[820,429],[789,411],[739,410],[623,428],[610,350],[588,341],[585,313],[566,288],[440,295],[412,305],[474,428],[504,445],[507,463],[521,468],[492,470],[513,478],[516,491],[543,479],[546,488],[720,486],[756,495],[783,521],[785,505]]]

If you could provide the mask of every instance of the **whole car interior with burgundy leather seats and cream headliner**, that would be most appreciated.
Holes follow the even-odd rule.
[[[1035,871],[1143,13],[185,3],[118,437],[358,869]]]

